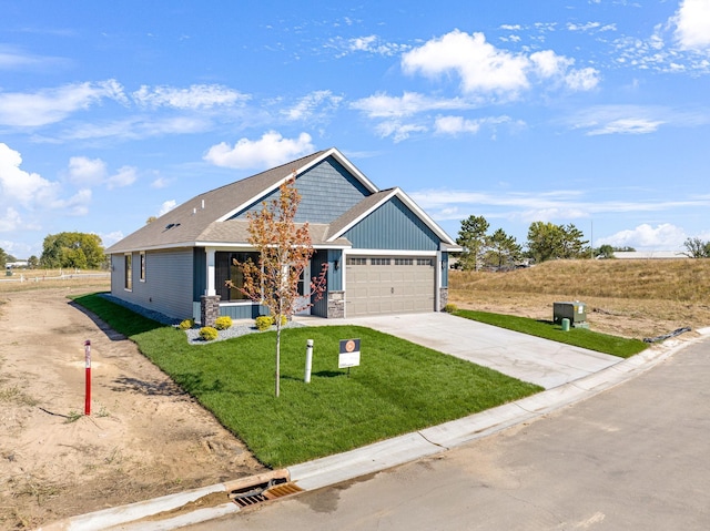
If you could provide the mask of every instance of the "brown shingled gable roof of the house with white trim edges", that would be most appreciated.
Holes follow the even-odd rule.
[[[329,156],[339,162],[359,181],[371,192],[371,195],[364,197],[329,225],[310,224],[314,246],[349,247],[349,242],[343,237],[343,234],[394,196],[402,200],[442,242],[455,245],[450,236],[402,190],[379,191],[338,150],[332,147],[200,194],[128,235],[105,252],[113,254],[161,248],[219,246],[220,244],[230,246],[246,244],[248,222],[233,219],[233,217],[278,188],[292,177],[294,172],[297,177]]]

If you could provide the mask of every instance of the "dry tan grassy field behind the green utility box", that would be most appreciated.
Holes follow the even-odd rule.
[[[509,273],[450,272],[463,309],[552,318],[552,304],[582,300],[591,329],[642,339],[710,326],[710,259],[555,261]]]

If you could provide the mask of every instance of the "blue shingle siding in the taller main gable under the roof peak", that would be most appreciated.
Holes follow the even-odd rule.
[[[301,174],[296,178],[296,190],[301,194],[296,223],[332,223],[363,197],[371,195],[369,191],[332,156]],[[265,201],[278,197],[278,193],[277,190],[272,192]],[[261,211],[263,201],[251,205],[234,217],[244,219],[248,212]]]

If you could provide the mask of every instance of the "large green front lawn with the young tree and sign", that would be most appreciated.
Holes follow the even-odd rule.
[[[274,397],[275,333],[189,345],[98,295],[74,300],[98,314],[239,436],[268,467],[283,467],[465,417],[540,391],[495,370],[355,326],[282,333],[281,397]],[[338,369],[338,341],[361,339],[361,366]],[[304,384],[306,339],[314,340]]]

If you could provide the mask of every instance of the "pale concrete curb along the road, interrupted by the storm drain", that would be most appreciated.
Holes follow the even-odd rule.
[[[710,328],[697,331],[702,336],[710,335]],[[639,376],[700,339],[702,337],[691,341],[667,340],[662,346],[651,347],[599,372],[515,402],[505,404],[463,419],[387,439],[348,452],[295,464],[286,470],[291,481],[307,491],[440,453],[591,398],[599,392]],[[247,478],[243,478],[240,481],[244,480],[247,480]],[[229,502],[217,507],[195,509],[175,517],[155,518],[160,513],[175,511],[185,504],[215,492],[225,492],[226,496],[226,492],[231,491],[230,484],[219,483],[72,517],[39,528],[38,531],[163,531],[178,529],[239,512],[240,508],[235,503]],[[151,517],[155,519],[146,520]]]

